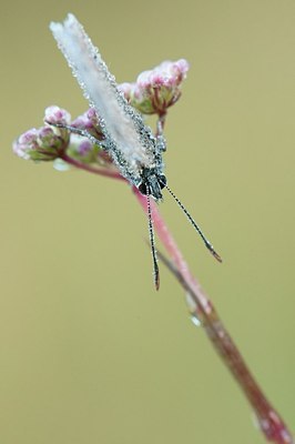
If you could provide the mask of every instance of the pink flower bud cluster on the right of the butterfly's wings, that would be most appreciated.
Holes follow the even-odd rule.
[[[180,99],[189,68],[184,59],[164,61],[153,70],[143,71],[135,83],[122,83],[119,88],[141,113],[163,115]]]

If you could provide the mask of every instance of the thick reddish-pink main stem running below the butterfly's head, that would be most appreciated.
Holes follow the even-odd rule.
[[[145,213],[148,213],[145,196],[135,188],[133,188],[133,191]],[[189,291],[195,302],[192,314],[201,321],[215,350],[246,395],[256,413],[262,432],[268,441],[276,444],[294,443],[294,438],[288,432],[284,421],[266,400],[264,393],[251,374],[243,356],[224,327],[208,296],[204,293],[200,283],[192,276],[176,242],[160,215],[156,204],[154,202],[151,202],[151,204],[154,229],[181,275],[180,282],[184,289]]]

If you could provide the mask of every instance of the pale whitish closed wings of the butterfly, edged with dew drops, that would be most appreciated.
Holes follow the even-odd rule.
[[[51,23],[50,29],[85,98],[102,118],[105,132],[114,141],[123,163],[128,162],[126,168],[135,175],[139,164],[153,167],[155,141],[152,132],[118,90],[114,77],[82,26],[69,14],[64,23]]]

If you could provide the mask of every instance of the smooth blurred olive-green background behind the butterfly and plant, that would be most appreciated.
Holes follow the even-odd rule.
[[[18,0],[0,6],[0,442],[264,443],[163,266],[155,293],[129,188],[11,152],[47,105],[88,107],[48,29],[69,11],[118,82],[190,61],[166,173],[224,264],[169,195],[161,212],[295,430],[294,1]]]

